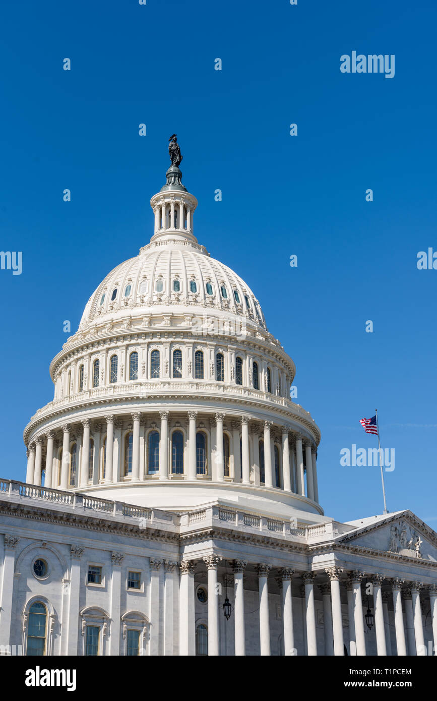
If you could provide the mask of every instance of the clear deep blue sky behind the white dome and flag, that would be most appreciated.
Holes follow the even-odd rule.
[[[22,429],[53,399],[62,322],[76,330],[104,275],[148,243],[177,132],[197,238],[255,290],[296,362],[297,401],[322,433],[326,514],[382,512],[379,468],[340,465],[340,449],[375,446],[359,419],[377,407],[396,450],[389,510],[436,528],[437,271],[416,266],[437,250],[435,2],[0,12],[0,247],[23,254],[22,275],[0,271],[1,476],[25,478]],[[352,50],[394,54],[394,78],[340,73]]]

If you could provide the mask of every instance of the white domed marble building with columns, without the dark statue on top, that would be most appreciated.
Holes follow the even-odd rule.
[[[293,360],[174,169],[151,205],[50,365],[26,482],[0,479],[0,652],[433,654],[436,533],[324,515]]]

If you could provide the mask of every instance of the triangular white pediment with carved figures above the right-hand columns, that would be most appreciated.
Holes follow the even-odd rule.
[[[410,511],[357,528],[341,540],[345,544],[410,557],[417,562],[437,562],[437,533]]]

